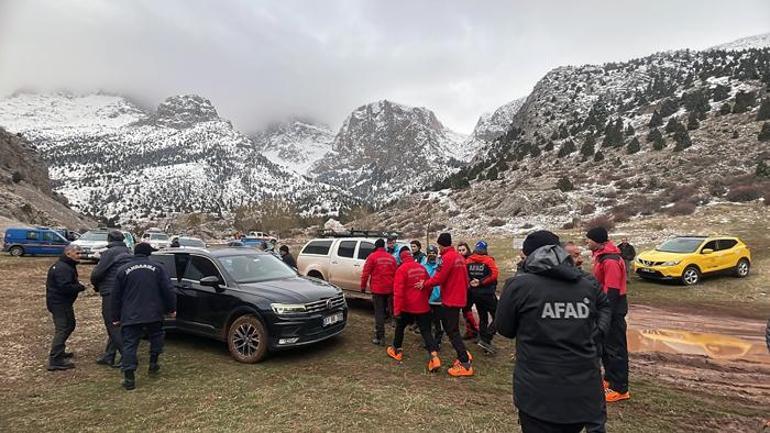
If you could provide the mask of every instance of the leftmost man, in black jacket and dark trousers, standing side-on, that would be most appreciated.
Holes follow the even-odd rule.
[[[45,282],[45,303],[53,316],[54,336],[48,355],[48,371],[74,368],[69,358],[72,353],[65,351],[67,339],[75,330],[75,309],[73,305],[78,294],[86,289],[78,281],[77,264],[80,249],[67,245],[64,254],[49,269]]]

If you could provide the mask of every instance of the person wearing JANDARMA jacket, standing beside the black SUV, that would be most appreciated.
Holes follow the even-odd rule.
[[[120,325],[123,337],[122,385],[136,387],[136,350],[146,332],[150,339],[150,374],[160,370],[158,357],[163,352],[163,315],[176,316],[176,294],[163,266],[150,260],[154,249],[148,243],[134,248],[134,258],[118,269],[112,293],[112,324]]]

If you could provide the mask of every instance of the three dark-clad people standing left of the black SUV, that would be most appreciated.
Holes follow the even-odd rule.
[[[107,334],[104,353],[96,363],[120,368],[121,384],[127,390],[136,387],[136,353],[144,335],[150,341],[148,373],[154,375],[160,371],[159,357],[164,342],[162,321],[164,316],[176,314],[176,294],[171,280],[162,266],[150,260],[153,251],[155,249],[144,242],[130,251],[124,243],[123,233],[111,231],[107,250],[91,272],[91,284],[101,295],[102,319]],[[75,330],[74,303],[86,289],[78,279],[79,261],[79,248],[68,245],[64,254],[48,269],[46,304],[54,322],[49,371],[75,367],[74,355],[66,351],[66,343]]]

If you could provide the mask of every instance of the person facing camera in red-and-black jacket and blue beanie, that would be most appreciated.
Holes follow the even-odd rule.
[[[495,259],[487,254],[487,243],[484,241],[476,242],[473,255],[468,257],[466,263],[471,279],[469,304],[475,304],[479,312],[478,344],[486,353],[494,354],[497,349],[492,345],[492,337],[496,332],[494,320],[497,312],[497,277],[500,272]]]

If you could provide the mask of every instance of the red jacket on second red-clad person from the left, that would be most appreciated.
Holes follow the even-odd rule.
[[[414,261],[410,251],[401,253],[401,266],[396,271],[393,282],[393,315],[401,313],[425,314],[430,311],[431,290],[423,287],[422,290],[415,287],[418,281],[430,278],[428,271]]]

